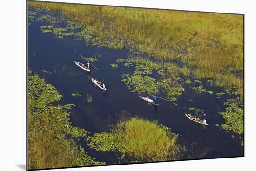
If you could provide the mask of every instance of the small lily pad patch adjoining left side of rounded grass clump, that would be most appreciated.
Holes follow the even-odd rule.
[[[89,141],[87,145],[96,151],[115,151],[118,145],[114,134],[107,132],[95,133],[93,137],[86,138],[85,140]]]

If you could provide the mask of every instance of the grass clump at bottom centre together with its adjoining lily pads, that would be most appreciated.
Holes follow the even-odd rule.
[[[111,133],[95,133],[87,137],[90,148],[97,151],[118,151],[129,162],[167,161],[182,158],[178,136],[171,129],[140,118],[117,122]]]

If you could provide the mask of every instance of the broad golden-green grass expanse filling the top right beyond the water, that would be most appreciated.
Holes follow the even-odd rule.
[[[243,89],[243,76],[234,74],[243,73],[243,15],[45,2],[29,2],[29,6],[60,11],[89,25],[98,38],[117,37],[118,49],[178,58],[194,76]]]

